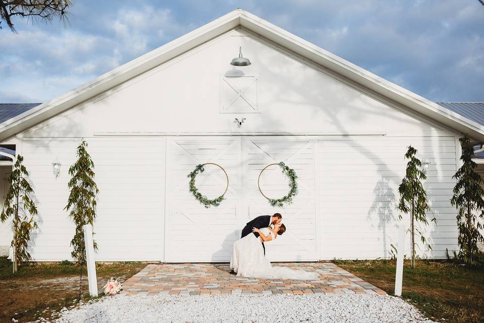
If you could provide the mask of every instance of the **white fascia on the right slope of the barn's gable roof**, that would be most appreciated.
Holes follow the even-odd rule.
[[[459,132],[468,133],[472,138],[484,140],[484,127],[482,125],[362,69],[251,13],[241,12],[240,25],[420,114],[437,120]]]

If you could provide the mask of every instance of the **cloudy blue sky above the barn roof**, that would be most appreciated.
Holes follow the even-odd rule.
[[[0,102],[43,102],[238,7],[434,101],[484,101],[477,0],[87,1],[0,30]],[[344,3],[344,4],[343,4]]]

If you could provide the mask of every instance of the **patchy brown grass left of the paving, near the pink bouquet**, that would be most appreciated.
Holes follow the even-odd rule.
[[[114,262],[112,264],[96,264],[98,284],[102,286],[110,277],[117,277],[121,282],[138,273],[146,263]],[[0,257],[0,322],[12,321],[12,317],[20,322],[31,321],[39,316],[44,309],[60,310],[77,303],[79,295],[79,274],[81,268],[67,260],[49,264],[25,264],[12,273],[12,262],[6,257]],[[84,301],[91,299],[87,292],[87,271],[82,268],[82,292]],[[102,292],[102,289],[99,290]],[[17,313],[17,314],[15,314]]]

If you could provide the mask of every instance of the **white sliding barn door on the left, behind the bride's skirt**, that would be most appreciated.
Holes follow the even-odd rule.
[[[228,261],[238,238],[239,137],[176,137],[167,140],[165,261]],[[189,191],[187,175],[198,164],[216,163],[229,179],[225,200],[205,208]],[[221,169],[207,165],[196,187],[213,199],[226,187]]]

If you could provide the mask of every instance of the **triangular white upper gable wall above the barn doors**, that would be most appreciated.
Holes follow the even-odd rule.
[[[239,45],[253,61],[239,70],[258,77],[261,113],[220,114],[221,75],[232,69],[228,64],[234,56],[232,48],[238,50]],[[24,136],[240,131],[421,133],[441,129],[322,71],[275,44],[237,29],[40,124]],[[247,118],[243,127],[237,127],[235,117]]]

